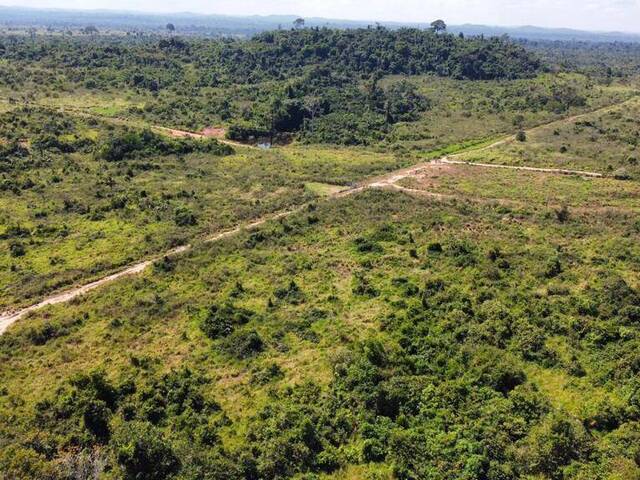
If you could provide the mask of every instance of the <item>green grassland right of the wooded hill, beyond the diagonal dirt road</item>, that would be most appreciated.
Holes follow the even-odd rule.
[[[487,82],[436,77],[408,79],[430,100],[431,108],[416,122],[395,125],[387,142],[427,151],[531,128],[621,102],[637,92],[634,81],[599,85],[577,74]],[[385,81],[398,80],[391,77]],[[559,92],[566,94],[567,99],[554,101],[561,96]]]

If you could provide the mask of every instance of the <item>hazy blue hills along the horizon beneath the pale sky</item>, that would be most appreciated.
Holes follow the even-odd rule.
[[[181,34],[202,36],[250,37],[257,33],[293,25],[295,15],[229,16],[195,13],[155,14],[111,10],[62,10],[33,9],[0,6],[0,27],[49,27],[74,29],[94,25],[109,31],[165,31],[167,23],[173,23]],[[358,28],[380,24],[388,28],[420,27],[428,23],[399,23],[353,21],[327,18],[307,18],[309,27]],[[566,28],[541,28],[535,26],[500,27],[487,25],[450,25],[449,31],[465,35],[509,35],[528,40],[577,40],[591,42],[640,42],[640,34],[622,32],[588,32]]]

